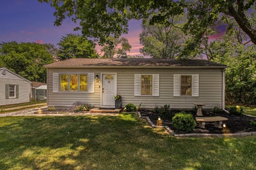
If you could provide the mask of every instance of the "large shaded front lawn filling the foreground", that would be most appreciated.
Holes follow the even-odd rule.
[[[1,117],[0,169],[256,169],[256,137],[173,138],[135,114]]]

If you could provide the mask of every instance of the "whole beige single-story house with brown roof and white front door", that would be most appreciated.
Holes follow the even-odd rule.
[[[120,94],[122,107],[225,107],[227,66],[207,60],[71,58],[45,67],[48,106],[70,107],[84,101],[115,107],[113,96]]]

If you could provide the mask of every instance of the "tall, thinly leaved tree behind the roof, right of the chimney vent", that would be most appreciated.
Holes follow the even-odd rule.
[[[143,47],[140,52],[153,58],[177,58],[185,43],[185,35],[181,28],[184,23],[183,15],[172,16],[168,22],[172,24],[142,22],[140,44]]]

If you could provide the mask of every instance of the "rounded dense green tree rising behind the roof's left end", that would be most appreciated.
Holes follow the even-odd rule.
[[[68,34],[66,37],[61,38],[58,45],[59,51],[57,55],[60,60],[67,60],[68,58],[98,58],[95,44],[80,35]]]

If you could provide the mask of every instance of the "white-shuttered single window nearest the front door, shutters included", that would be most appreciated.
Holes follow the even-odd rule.
[[[159,74],[134,74],[134,96],[159,96]]]

